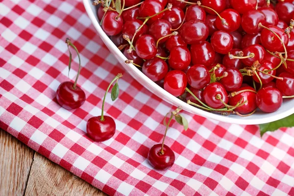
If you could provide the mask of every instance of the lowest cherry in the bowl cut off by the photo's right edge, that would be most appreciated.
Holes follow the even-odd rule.
[[[294,75],[288,72],[283,72],[279,77],[284,78],[283,80],[276,81],[277,89],[284,96],[293,96],[294,95]]]

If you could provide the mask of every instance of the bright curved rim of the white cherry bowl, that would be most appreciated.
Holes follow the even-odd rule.
[[[87,12],[92,24],[94,25],[94,27],[98,31],[99,36],[101,37],[102,40],[104,40],[104,41],[106,41],[108,43],[109,47],[111,47],[111,49],[116,52],[117,56],[119,56],[123,61],[127,60],[127,58],[123,55],[121,50],[119,50],[115,46],[115,44],[110,40],[110,38],[102,30],[101,26],[98,23],[97,16],[95,16],[93,11],[92,11],[92,7],[94,5],[92,5],[90,3],[90,1],[91,0],[83,0],[83,4],[85,6],[86,12]],[[132,70],[132,72],[134,72],[135,74],[140,76],[148,84],[152,85],[152,88],[154,88],[161,95],[163,95],[164,97],[170,99],[171,102],[177,103],[177,106],[181,106],[183,108],[183,110],[191,112],[192,114],[196,114],[198,116],[208,118],[208,119],[212,119],[212,120],[216,120],[216,121],[220,121],[220,122],[224,122],[224,123],[250,125],[250,124],[270,123],[270,122],[277,121],[277,120],[283,119],[283,118],[285,118],[287,116],[290,116],[290,115],[294,114],[294,107],[289,109],[289,110],[286,110],[286,111],[284,111],[282,113],[278,113],[278,114],[275,114],[275,115],[270,115],[268,117],[263,117],[263,118],[256,118],[256,119],[246,119],[246,117],[238,117],[238,116],[237,117],[224,116],[224,115],[218,115],[218,114],[215,114],[215,113],[207,112],[207,111],[201,110],[199,108],[196,108],[196,107],[194,107],[192,105],[189,105],[186,102],[172,96],[172,94],[168,93],[167,91],[162,89],[160,86],[155,84],[152,80],[150,80],[144,73],[142,73],[135,66],[129,66],[129,68]],[[151,93],[153,93],[153,92],[151,92]]]

